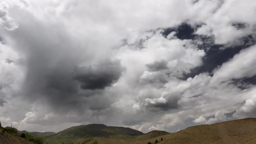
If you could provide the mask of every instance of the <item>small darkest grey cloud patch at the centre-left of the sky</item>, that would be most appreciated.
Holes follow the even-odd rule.
[[[95,66],[82,66],[75,70],[73,78],[80,82],[82,89],[103,89],[111,86],[121,77],[120,61],[106,60]]]

